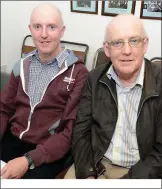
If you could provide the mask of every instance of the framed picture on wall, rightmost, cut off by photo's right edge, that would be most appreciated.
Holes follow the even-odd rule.
[[[140,18],[162,20],[162,1],[142,1]]]

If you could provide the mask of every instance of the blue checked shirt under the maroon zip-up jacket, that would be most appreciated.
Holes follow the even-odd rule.
[[[29,67],[28,83],[28,95],[32,107],[42,100],[42,94],[47,89],[52,78],[60,71],[68,55],[68,51],[64,49],[54,60],[45,64],[40,61],[39,55],[35,51]]]

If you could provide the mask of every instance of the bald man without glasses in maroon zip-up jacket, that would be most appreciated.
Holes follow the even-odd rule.
[[[31,15],[36,50],[15,64],[1,95],[2,178],[50,179],[67,165],[87,69],[61,47],[61,12],[43,3]],[[69,166],[69,165],[68,165]]]

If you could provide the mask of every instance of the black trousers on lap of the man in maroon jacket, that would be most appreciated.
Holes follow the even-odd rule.
[[[35,144],[29,144],[21,141],[13,136],[8,129],[1,142],[1,160],[8,162],[17,157],[23,156],[26,152],[36,148]],[[22,177],[23,179],[54,179],[55,176],[66,168],[65,162],[69,157],[69,153],[62,159],[42,164],[34,169],[29,169],[27,173]],[[69,166],[69,165],[68,165]]]

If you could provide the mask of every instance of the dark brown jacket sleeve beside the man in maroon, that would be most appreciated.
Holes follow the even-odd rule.
[[[89,76],[79,104],[72,139],[75,173],[78,179],[86,179],[89,176],[96,177],[97,174],[91,141],[91,127],[93,125],[91,88],[91,79]]]

